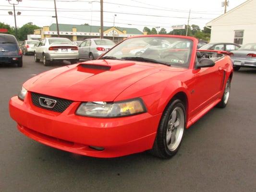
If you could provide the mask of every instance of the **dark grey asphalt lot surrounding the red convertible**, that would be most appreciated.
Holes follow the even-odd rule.
[[[232,80],[226,108],[214,108],[186,130],[169,160],[148,153],[100,159],[39,144],[10,118],[9,99],[45,67],[24,56],[24,67],[0,66],[1,192],[255,192],[256,69]]]

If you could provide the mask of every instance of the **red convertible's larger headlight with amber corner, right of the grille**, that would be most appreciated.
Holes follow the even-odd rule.
[[[76,110],[77,115],[88,117],[123,117],[146,112],[140,98],[121,102],[86,102]]]

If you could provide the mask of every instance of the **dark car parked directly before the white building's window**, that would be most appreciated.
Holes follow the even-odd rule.
[[[221,51],[233,51],[241,48],[240,45],[235,43],[208,43],[203,47],[199,48],[200,50],[221,50]]]

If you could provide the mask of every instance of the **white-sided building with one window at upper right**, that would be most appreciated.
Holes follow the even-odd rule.
[[[256,0],[245,1],[206,26],[211,28],[212,43],[256,43]]]

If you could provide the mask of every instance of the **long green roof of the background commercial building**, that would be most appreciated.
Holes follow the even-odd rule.
[[[57,31],[57,25],[51,24],[49,26],[50,31]],[[72,28],[76,28],[77,32],[92,32],[92,33],[98,33],[100,30],[100,26],[94,26],[94,25],[83,25],[83,24],[59,24],[60,31],[72,31]],[[106,31],[112,27],[104,26],[103,31]],[[143,33],[136,29],[136,28],[125,28],[125,27],[115,27],[119,31],[125,30],[127,34],[133,34],[133,35],[143,35]]]

